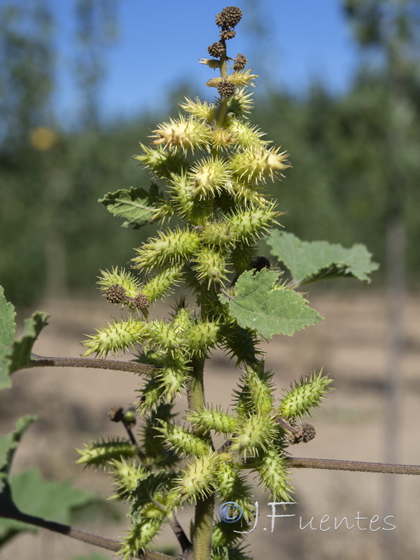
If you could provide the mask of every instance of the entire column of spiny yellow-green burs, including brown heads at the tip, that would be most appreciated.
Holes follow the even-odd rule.
[[[83,343],[85,356],[133,348],[139,363],[153,366],[138,401],[139,444],[114,438],[79,451],[80,463],[113,472],[116,498],[130,503],[132,528],[120,550],[126,558],[148,545],[177,507],[209,496],[235,501],[245,527],[253,514],[248,472],[275,499],[287,501],[284,449],[313,437],[293,426],[318,406],[330,383],[315,374],[277,398],[258,334],[241,328],[218,297],[221,290],[235,290],[242,272],[269,266],[256,257],[256,244],[281,212],[264,186],[289,167],[287,155],[262,139],[248,120],[252,103],[246,87],[256,76],[244,69],[244,55],[232,60],[226,54],[226,41],[235,36],[240,19],[235,7],[217,15],[220,40],[209,47],[212,58],[200,61],[220,69],[221,76],[207,83],[218,90],[215,102],[186,99],[183,112],[158,125],[151,144],[141,144],[141,155],[134,156],[153,176],[147,194],[150,221],[175,224],[136,249],[134,272],[102,272],[101,290],[126,313]],[[144,204],[144,198],[132,203]],[[181,282],[196,304],[186,305],[181,297],[169,318],[153,318],[151,304]],[[229,412],[200,400],[197,388],[204,360],[216,347],[244,370]],[[172,405],[184,391],[188,411],[179,421]],[[213,440],[217,434],[224,441],[219,448]],[[234,528],[215,524],[213,558],[227,557],[226,547],[230,554],[236,550],[235,558],[246,557]]]

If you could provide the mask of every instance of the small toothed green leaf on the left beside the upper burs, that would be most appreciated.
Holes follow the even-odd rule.
[[[152,183],[150,190],[132,187],[121,189],[116,193],[108,193],[99,202],[114,216],[124,218],[123,228],[137,230],[142,225],[152,223],[167,214],[167,207],[162,202],[158,187]]]

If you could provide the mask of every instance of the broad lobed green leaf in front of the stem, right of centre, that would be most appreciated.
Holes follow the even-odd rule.
[[[278,279],[272,270],[262,269],[255,275],[248,270],[237,279],[235,295],[220,294],[219,299],[229,304],[230,314],[241,327],[252,328],[267,339],[292,336],[323,320],[300,293],[274,286]]]

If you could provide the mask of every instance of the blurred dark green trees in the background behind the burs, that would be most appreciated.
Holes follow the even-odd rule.
[[[111,16],[101,8],[106,2],[75,3],[83,31],[75,41],[83,48],[106,43],[105,31],[90,33],[84,25],[88,16],[94,16],[108,29],[105,24]],[[8,300],[22,307],[46,293],[93,293],[98,269],[116,265],[116,258],[125,265],[130,248],[148,237],[148,228],[139,232],[120,228],[96,201],[118,188],[148,188],[149,180],[131,155],[137,152],[137,142],[173,107],[162,108],[155,116],[102,122],[92,111],[99,105],[99,85],[106,71],[106,50],[97,49],[90,66],[83,66],[83,58],[76,60],[80,63],[76,80],[86,102],[74,129],[64,130],[54,116],[51,97],[54,22],[48,2],[40,0],[38,11],[25,14],[13,4],[6,2],[1,8],[0,27],[7,47],[3,52],[8,52],[7,57],[0,55],[0,109],[7,115],[0,127],[0,283]],[[31,36],[16,24],[24,16],[30,20]],[[290,153],[294,169],[272,193],[279,207],[288,211],[282,219],[286,230],[307,241],[364,243],[382,264],[388,161],[397,158],[405,172],[407,268],[414,282],[420,265],[415,249],[420,241],[419,71],[410,73],[404,84],[408,114],[407,103],[394,108],[405,119],[405,144],[392,154],[387,80],[384,65],[367,69],[360,59],[358,76],[345,94],[333,97],[322,83],[299,98],[266,91],[255,99],[253,121],[267,137],[283,141]],[[168,92],[168,99],[179,101],[177,87],[176,95]],[[193,86],[185,89],[195,95]],[[40,125],[57,134],[47,151],[34,148],[31,141],[31,132]]]

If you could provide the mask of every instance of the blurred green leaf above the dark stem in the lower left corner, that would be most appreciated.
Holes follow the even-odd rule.
[[[72,488],[69,482],[47,482],[37,469],[25,470],[10,477],[10,489],[20,511],[63,524],[70,523],[73,509],[103,499]],[[36,530],[22,521],[0,518],[0,544],[21,531]]]

